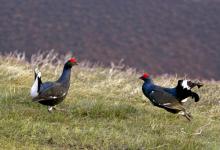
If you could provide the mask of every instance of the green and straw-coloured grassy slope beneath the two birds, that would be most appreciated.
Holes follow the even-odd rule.
[[[42,66],[43,80],[56,79],[61,69],[60,65]],[[132,70],[73,68],[69,95],[59,105],[66,111],[51,114],[45,106],[31,102],[30,64],[1,56],[0,70],[1,149],[220,148],[218,82],[205,82],[199,91],[201,101],[186,104],[194,116],[189,123],[146,103],[142,82]],[[164,86],[176,81],[155,78]]]

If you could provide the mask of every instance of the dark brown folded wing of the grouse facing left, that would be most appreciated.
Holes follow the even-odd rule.
[[[160,107],[176,111],[185,111],[182,104],[174,96],[166,92],[154,90],[149,94],[149,96],[153,103],[159,105]]]

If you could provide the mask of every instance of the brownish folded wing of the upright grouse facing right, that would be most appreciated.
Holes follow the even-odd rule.
[[[42,89],[37,97],[33,99],[35,102],[44,100],[54,100],[57,98],[62,98],[66,95],[66,89],[61,83],[50,83],[46,86],[42,85]]]

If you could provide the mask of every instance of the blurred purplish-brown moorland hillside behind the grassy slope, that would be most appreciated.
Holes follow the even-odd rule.
[[[220,0],[0,0],[0,51],[54,49],[150,74],[220,79]]]

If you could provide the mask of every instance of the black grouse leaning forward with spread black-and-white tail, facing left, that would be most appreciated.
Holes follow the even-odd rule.
[[[144,95],[151,101],[154,106],[163,108],[171,113],[179,113],[186,117],[189,121],[192,116],[186,111],[182,103],[187,97],[192,97],[196,102],[199,101],[199,95],[192,92],[195,86],[200,88],[201,83],[193,83],[188,80],[179,80],[174,88],[165,88],[155,85],[150,76],[145,73],[140,79],[144,80],[142,91]]]

